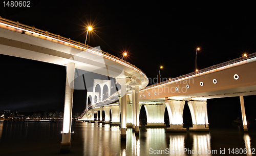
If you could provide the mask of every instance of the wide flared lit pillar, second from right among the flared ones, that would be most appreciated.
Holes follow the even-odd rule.
[[[183,100],[166,100],[165,105],[168,110],[170,128],[166,128],[169,132],[186,132],[183,128],[183,109],[185,101]]]

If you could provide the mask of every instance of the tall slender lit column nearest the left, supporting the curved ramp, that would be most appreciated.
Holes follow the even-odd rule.
[[[70,137],[71,137],[71,124],[72,124],[74,77],[75,77],[75,63],[69,62],[67,65],[63,130],[62,130],[62,141],[60,143],[60,153],[69,153],[70,147],[71,147]]]

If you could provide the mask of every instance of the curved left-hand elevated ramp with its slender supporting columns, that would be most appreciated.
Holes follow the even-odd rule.
[[[74,79],[93,72],[114,78],[121,88],[139,91],[148,84],[136,66],[83,43],[0,17],[0,54],[67,67],[61,153],[70,152]],[[84,85],[83,82],[79,83]],[[110,88],[109,88],[110,91]],[[121,136],[126,138],[126,93],[122,92]],[[138,95],[138,92],[137,92]],[[138,126],[137,126],[137,129]]]

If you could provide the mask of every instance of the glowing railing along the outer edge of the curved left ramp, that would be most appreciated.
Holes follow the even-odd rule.
[[[1,16],[0,16],[0,23],[6,24],[6,25],[9,25],[9,26],[13,26],[13,27],[16,27],[16,28],[20,28],[20,29],[23,29],[25,31],[30,31],[32,33],[37,33],[37,34],[45,35],[46,37],[52,37],[52,38],[54,38],[54,39],[56,39],[58,41],[67,42],[67,43],[69,43],[69,44],[71,44],[73,46],[78,46],[78,48],[82,48],[83,50],[92,50],[92,51],[98,53],[96,55],[103,55],[103,57],[106,58],[106,59],[110,59],[112,61],[115,61],[117,63],[125,65],[128,68],[131,68],[133,70],[138,71],[148,81],[148,78],[146,77],[146,75],[139,68],[137,68],[137,66],[135,66],[135,65],[133,65],[133,64],[131,64],[131,63],[129,63],[129,62],[119,58],[119,57],[116,57],[116,56],[111,55],[109,53],[103,52],[102,50],[98,50],[98,49],[96,49],[94,47],[88,46],[88,44],[80,43],[79,41],[75,41],[75,40],[72,40],[70,38],[62,37],[60,35],[56,35],[56,34],[48,32],[48,31],[40,30],[40,29],[37,29],[35,27],[30,27],[30,26],[27,26],[27,25],[24,25],[24,24],[20,24],[18,21],[15,22],[15,21],[3,18]]]

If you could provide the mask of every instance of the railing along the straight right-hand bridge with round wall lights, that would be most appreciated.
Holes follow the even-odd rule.
[[[221,68],[222,66],[237,63],[237,62],[240,62],[240,61],[243,61],[243,60],[246,60],[246,59],[250,59],[250,58],[253,58],[253,57],[256,57],[256,53],[252,53],[252,54],[249,54],[247,56],[242,56],[242,57],[239,57],[239,58],[236,58],[236,59],[232,59],[230,61],[226,61],[226,62],[223,62],[223,63],[220,63],[220,64],[212,65],[208,68],[199,70],[198,72],[192,72],[192,73],[189,73],[189,74],[186,74],[186,75],[182,75],[182,76],[179,76],[179,77],[176,77],[176,78],[172,78],[170,80],[166,80],[166,81],[163,81],[163,82],[160,82],[160,83],[156,83],[156,84],[147,86],[147,87],[143,88],[142,90],[146,90],[147,88],[152,88],[154,86],[158,86],[158,85],[165,84],[165,83],[168,83],[168,82],[173,82],[173,81],[176,81],[176,80],[187,78],[187,77],[190,77],[190,76],[193,76],[193,75],[196,75],[196,74],[200,74],[200,73],[204,73],[204,72],[214,70],[214,69],[217,69],[217,68]]]

